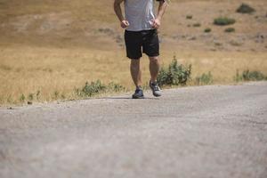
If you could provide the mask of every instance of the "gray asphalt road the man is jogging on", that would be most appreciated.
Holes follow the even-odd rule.
[[[266,178],[267,83],[0,109],[1,178]]]

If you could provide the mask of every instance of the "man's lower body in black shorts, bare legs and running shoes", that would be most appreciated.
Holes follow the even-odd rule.
[[[159,43],[157,29],[142,30],[142,31],[127,31],[125,30],[125,45],[127,57],[131,59],[131,75],[136,86],[134,99],[144,98],[142,93],[142,71],[140,68],[140,59],[142,53],[145,53],[150,58],[150,88],[153,95],[161,96],[160,88],[158,87],[157,77],[159,72]]]

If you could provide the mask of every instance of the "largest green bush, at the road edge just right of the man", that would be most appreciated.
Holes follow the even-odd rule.
[[[161,68],[158,74],[158,85],[186,85],[191,75],[191,65],[179,65],[174,56],[174,60],[168,68]]]

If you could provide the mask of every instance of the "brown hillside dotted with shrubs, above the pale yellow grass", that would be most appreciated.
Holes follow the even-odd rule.
[[[0,44],[117,49],[124,43],[123,30],[118,27],[112,2],[0,0]],[[236,9],[242,2],[173,0],[160,31],[162,44],[179,49],[266,51],[267,2],[247,2],[256,12],[240,14]],[[214,19],[221,16],[237,22],[215,26]],[[206,28],[211,32],[205,33]],[[225,33],[226,28],[235,32]]]

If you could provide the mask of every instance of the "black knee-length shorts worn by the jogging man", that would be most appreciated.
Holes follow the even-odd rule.
[[[125,45],[127,57],[132,60],[138,60],[142,53],[150,57],[159,55],[158,31],[157,29],[142,31],[125,30]]]

